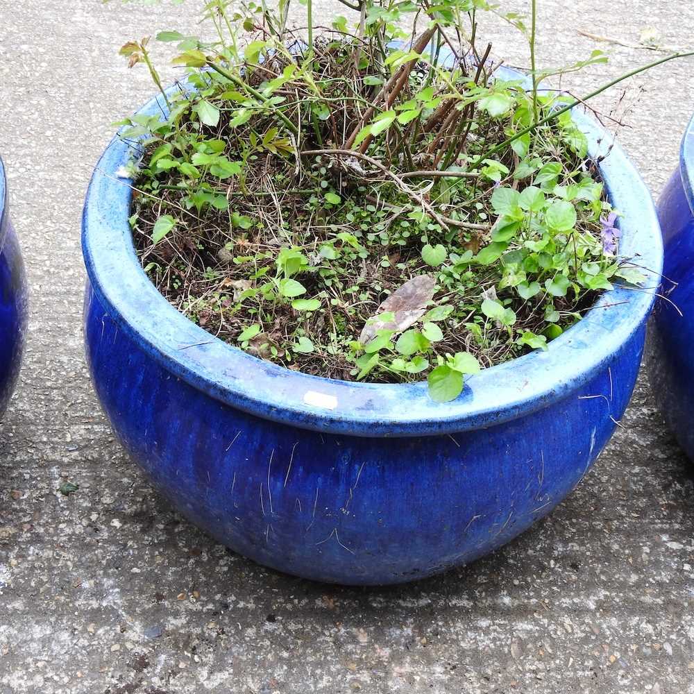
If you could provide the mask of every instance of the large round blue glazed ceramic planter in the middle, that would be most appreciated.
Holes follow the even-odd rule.
[[[152,101],[145,112],[159,112]],[[611,139],[576,114],[593,157]],[[342,584],[432,575],[548,514],[611,436],[641,362],[649,293],[616,287],[550,344],[470,378],[452,403],[425,383],[316,378],[188,321],[145,276],[115,139],[85,203],[87,359],[130,455],[191,521],[255,561]],[[601,164],[623,253],[661,269],[657,217],[618,145]]]

